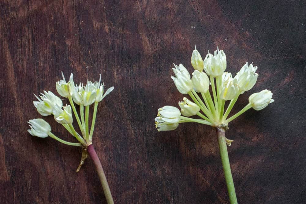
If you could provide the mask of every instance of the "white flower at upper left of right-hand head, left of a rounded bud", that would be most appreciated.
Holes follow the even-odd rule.
[[[189,91],[192,91],[193,88],[192,81],[190,79],[190,74],[182,64],[180,64],[179,66],[174,66],[176,69],[172,69],[176,77],[171,76],[171,78],[173,79],[177,90],[181,94],[187,94]]]

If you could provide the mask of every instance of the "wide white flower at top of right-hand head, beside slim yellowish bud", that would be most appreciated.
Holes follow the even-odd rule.
[[[226,55],[223,50],[219,48],[215,51],[214,55],[208,54],[204,59],[204,70],[209,76],[221,76],[226,69]]]

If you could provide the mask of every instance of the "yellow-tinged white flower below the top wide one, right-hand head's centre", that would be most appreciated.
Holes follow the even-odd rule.
[[[222,75],[222,87],[220,98],[223,100],[232,100],[238,94],[237,81],[233,80],[232,74],[224,72]]]

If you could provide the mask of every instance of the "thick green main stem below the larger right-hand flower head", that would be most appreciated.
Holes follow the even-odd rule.
[[[224,130],[221,130],[219,128],[216,128],[216,131],[218,135],[220,156],[221,156],[227,191],[228,191],[229,198],[230,198],[230,203],[237,204],[238,202],[237,202],[237,197],[236,197],[236,192],[235,192],[235,187],[234,187],[234,181],[233,181],[232,172],[230,169],[230,160],[229,160],[229,155],[227,153],[225,132]]]

